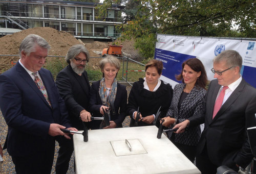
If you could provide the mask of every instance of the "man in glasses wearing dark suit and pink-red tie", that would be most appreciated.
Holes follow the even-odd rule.
[[[256,89],[242,78],[242,61],[232,50],[215,57],[211,71],[217,79],[209,84],[203,112],[174,127],[182,133],[187,126],[205,124],[196,157],[202,173],[216,173],[221,165],[238,171],[252,159],[246,128],[253,125],[249,120],[256,113]]]

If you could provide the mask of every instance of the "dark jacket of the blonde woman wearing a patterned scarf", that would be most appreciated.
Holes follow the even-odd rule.
[[[90,91],[90,107],[95,117],[102,117],[99,108],[102,106],[102,101],[99,96],[99,82],[94,82]],[[122,128],[122,122],[125,118],[126,105],[127,105],[127,91],[124,85],[117,83],[116,99],[114,102],[115,115],[111,115],[111,120],[116,123],[117,128]],[[93,120],[90,122],[92,129],[99,129],[100,120]]]

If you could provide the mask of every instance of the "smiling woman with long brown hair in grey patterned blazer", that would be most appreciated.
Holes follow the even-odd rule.
[[[182,83],[174,87],[172,103],[163,118],[165,127],[174,127],[176,123],[201,112],[206,94],[207,75],[199,59],[191,58],[183,62],[182,71],[176,79]],[[183,134],[167,133],[168,138],[191,162],[195,160],[200,134],[200,126],[188,129]]]

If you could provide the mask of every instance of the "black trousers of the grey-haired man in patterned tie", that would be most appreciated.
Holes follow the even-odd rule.
[[[47,151],[37,152],[30,156],[12,156],[17,174],[51,173],[55,151],[55,141]]]

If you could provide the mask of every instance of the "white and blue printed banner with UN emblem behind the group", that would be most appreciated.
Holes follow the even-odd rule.
[[[175,75],[181,72],[182,63],[197,57],[204,64],[208,80],[214,79],[212,60],[224,50],[233,49],[243,58],[241,74],[246,82],[256,87],[256,49],[253,40],[236,40],[222,38],[187,37],[172,35],[157,35],[155,59],[163,62],[161,79],[175,86],[181,83]]]

